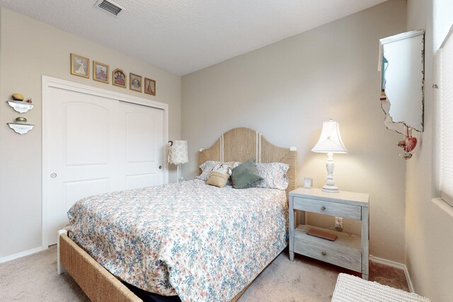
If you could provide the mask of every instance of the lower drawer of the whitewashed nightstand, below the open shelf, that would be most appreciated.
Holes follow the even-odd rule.
[[[316,238],[299,233],[294,234],[294,252],[312,257],[321,261],[362,272],[362,252],[343,245],[336,245],[335,241]]]

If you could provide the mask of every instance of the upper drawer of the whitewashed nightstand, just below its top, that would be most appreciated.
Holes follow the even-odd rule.
[[[313,213],[339,216],[348,219],[362,220],[362,207],[351,204],[338,204],[302,197],[293,197],[294,209]]]

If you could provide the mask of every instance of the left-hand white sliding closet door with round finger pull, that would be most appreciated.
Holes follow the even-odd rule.
[[[118,101],[61,88],[49,88],[45,100],[44,175],[47,183],[45,233],[57,243],[57,230],[79,199],[117,190]]]

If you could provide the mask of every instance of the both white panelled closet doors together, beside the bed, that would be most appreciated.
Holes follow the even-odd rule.
[[[49,88],[45,102],[48,245],[77,200],[163,184],[164,110],[62,88]]]

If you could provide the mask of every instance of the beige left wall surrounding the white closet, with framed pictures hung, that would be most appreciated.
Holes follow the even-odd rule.
[[[41,76],[83,83],[169,104],[170,139],[180,137],[180,76],[84,40],[50,25],[1,8],[0,11],[0,259],[41,245]],[[134,45],[130,45],[134,47]],[[130,91],[72,76],[69,54],[123,69],[157,81],[157,95]],[[90,66],[90,71],[92,64]],[[111,74],[110,74],[111,76]],[[111,82],[111,81],[110,81]],[[33,98],[35,108],[25,114],[5,102],[14,92]],[[19,135],[7,122],[23,116],[35,128]],[[171,181],[176,179],[171,173]]]

